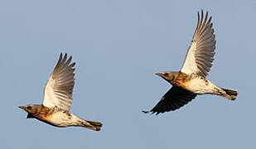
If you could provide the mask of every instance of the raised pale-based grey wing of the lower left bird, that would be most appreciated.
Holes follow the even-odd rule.
[[[75,85],[75,62],[70,64],[71,60],[72,56],[67,60],[67,54],[62,58],[60,53],[60,59],[45,87],[44,106],[70,111]]]

